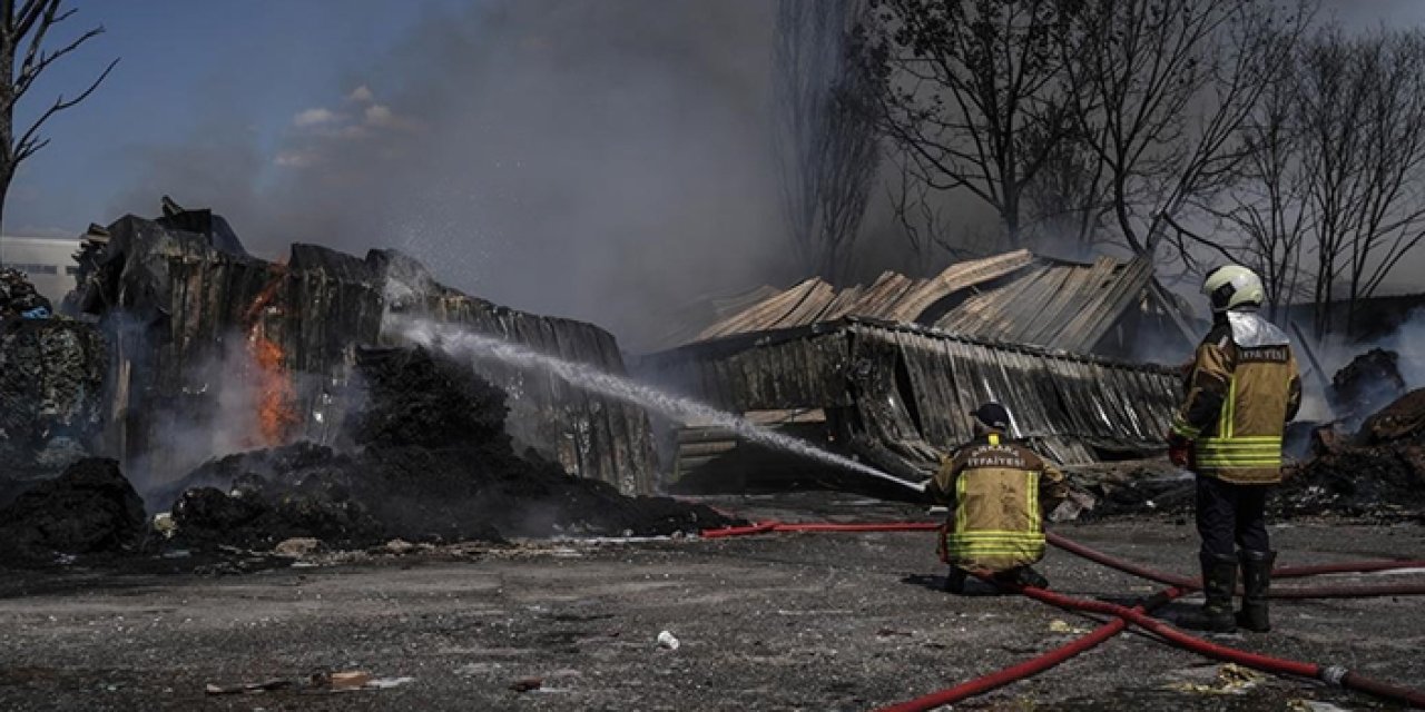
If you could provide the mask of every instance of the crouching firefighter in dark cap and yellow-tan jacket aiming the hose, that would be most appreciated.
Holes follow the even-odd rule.
[[[950,504],[950,515],[940,527],[940,560],[950,565],[945,588],[965,592],[968,572],[1047,588],[1049,581],[1030,568],[1045,558],[1040,484],[1047,484],[1057,504],[1069,496],[1064,476],[1009,440],[1005,406],[985,403],[972,416],[975,439],[943,459],[926,486],[931,497]]]

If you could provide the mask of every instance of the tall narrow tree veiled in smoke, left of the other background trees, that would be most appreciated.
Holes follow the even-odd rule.
[[[838,282],[876,175],[875,84],[852,61],[864,0],[781,0],[777,66],[782,198],[802,265]]]

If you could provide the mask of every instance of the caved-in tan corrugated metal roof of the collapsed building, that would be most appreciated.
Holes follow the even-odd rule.
[[[708,326],[698,340],[859,316],[1089,352],[1144,299],[1151,276],[1143,259],[1083,265],[1017,251],[950,265],[921,281],[885,272],[869,286],[836,290],[808,279]]]

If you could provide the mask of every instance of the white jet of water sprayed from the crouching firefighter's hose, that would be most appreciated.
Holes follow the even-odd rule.
[[[664,417],[680,423],[707,422],[718,427],[725,427],[737,433],[744,440],[774,447],[787,453],[805,457],[822,464],[839,467],[865,474],[878,480],[895,483],[901,487],[925,491],[923,483],[911,483],[899,477],[882,473],[875,467],[858,463],[835,453],[828,453],[804,440],[788,437],[781,433],[750,423],[732,413],[718,410],[705,403],[674,396],[651,386],[637,383],[623,376],[600,370],[587,363],[576,363],[539,353],[529,347],[506,342],[493,336],[475,333],[453,325],[439,323],[429,319],[416,319],[400,328],[402,336],[416,345],[439,350],[457,359],[497,360],[506,366],[517,369],[537,369],[559,376],[574,387],[591,390],[624,403],[631,403],[647,410],[657,412]]]

